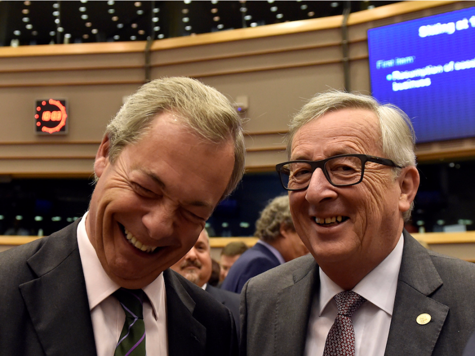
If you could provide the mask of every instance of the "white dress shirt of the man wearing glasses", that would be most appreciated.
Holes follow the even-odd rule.
[[[355,330],[355,356],[383,356],[391,325],[397,278],[402,261],[404,238],[352,290],[366,298],[352,320]],[[319,268],[320,291],[314,297],[308,323],[305,356],[323,355],[328,332],[335,321],[337,309],[333,297],[343,289]]]

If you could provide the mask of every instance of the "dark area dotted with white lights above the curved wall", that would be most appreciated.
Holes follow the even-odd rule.
[[[0,45],[162,39],[392,2],[398,0],[0,0]]]

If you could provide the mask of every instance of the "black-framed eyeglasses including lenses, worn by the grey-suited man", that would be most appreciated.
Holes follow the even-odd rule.
[[[320,161],[296,160],[278,164],[277,173],[286,190],[304,190],[308,188],[313,172],[320,168],[330,184],[334,186],[355,185],[363,180],[366,162],[375,162],[384,166],[402,168],[387,158],[365,154],[344,154]]]

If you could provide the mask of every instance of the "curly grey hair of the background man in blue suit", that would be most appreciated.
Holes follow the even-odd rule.
[[[295,230],[290,215],[288,195],[278,196],[269,201],[256,221],[254,235],[266,242],[274,241],[281,233],[282,223],[285,227]]]

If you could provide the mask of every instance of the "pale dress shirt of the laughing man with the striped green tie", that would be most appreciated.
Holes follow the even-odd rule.
[[[111,296],[119,285],[102,268],[86,232],[86,213],[78,225],[78,245],[89,308],[93,322],[97,356],[114,355],[125,322],[125,312],[119,301]],[[143,288],[148,300],[143,302],[145,347],[148,356],[168,355],[166,294],[163,272]]]

